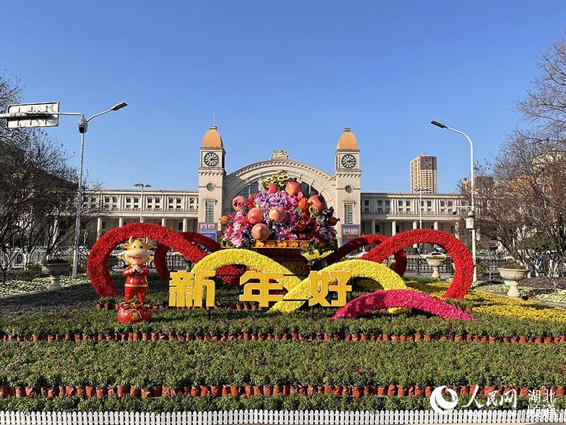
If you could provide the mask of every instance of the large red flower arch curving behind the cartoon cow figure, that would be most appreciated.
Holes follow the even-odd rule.
[[[98,296],[117,297],[120,295],[110,277],[107,261],[115,246],[132,236],[149,237],[158,244],[171,246],[171,249],[175,249],[192,263],[197,263],[207,255],[195,244],[185,240],[182,234],[160,225],[133,223],[112,229],[96,241],[93,249],[91,249],[91,254],[88,256],[88,277],[91,279],[91,285],[93,285]],[[233,268],[233,274],[237,273],[240,273],[238,268]]]

